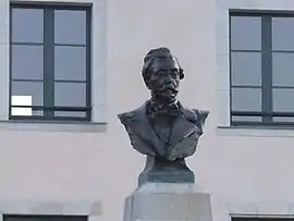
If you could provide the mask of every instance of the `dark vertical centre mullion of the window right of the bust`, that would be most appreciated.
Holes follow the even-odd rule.
[[[261,17],[261,96],[262,122],[272,122],[272,56],[271,56],[271,16]]]

